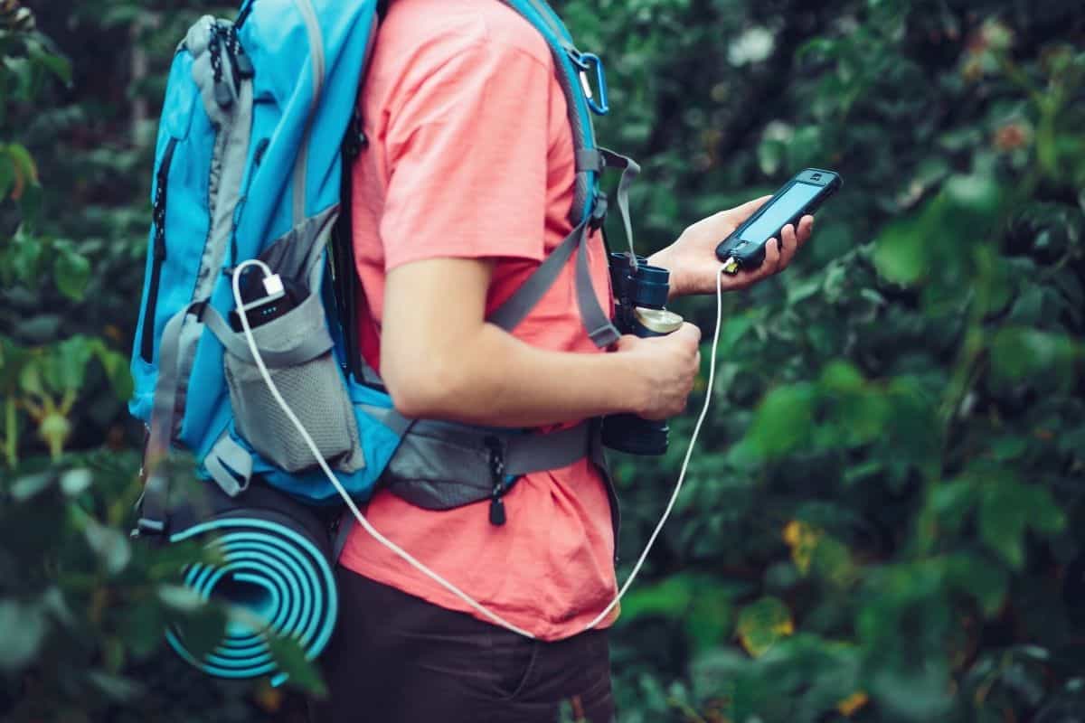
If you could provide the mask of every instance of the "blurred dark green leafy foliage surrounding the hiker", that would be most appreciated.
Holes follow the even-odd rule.
[[[0,0],[0,718],[301,720],[164,651],[165,620],[213,638],[230,611],[170,585],[197,551],[125,535],[155,113],[225,9],[25,4]],[[560,5],[608,63],[601,138],[644,167],[641,249],[800,168],[845,179],[793,267],[725,299],[714,413],[613,634],[621,720],[1081,720],[1081,9]],[[711,328],[711,300],[678,310]],[[614,460],[627,560],[691,416]]]

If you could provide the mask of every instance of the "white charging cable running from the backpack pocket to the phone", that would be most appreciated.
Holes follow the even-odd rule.
[[[260,261],[258,259],[252,259],[242,262],[241,264],[238,266],[237,269],[234,269],[232,279],[233,300],[239,309],[244,309],[245,307],[244,299],[241,297],[241,274],[245,269],[252,267],[257,267],[264,272],[264,284],[266,289],[270,291],[271,288],[280,288],[282,284],[282,281],[279,279],[279,275],[272,272],[271,269],[268,267],[268,264],[266,264],[264,261]],[[622,590],[618,591],[617,596],[615,596],[614,599],[611,601],[610,605],[608,605],[607,608],[602,612],[600,612],[595,620],[592,620],[587,624],[585,630],[590,630],[591,628],[595,628],[597,624],[599,624],[600,621],[602,621],[608,615],[610,615],[610,611],[614,609],[614,606],[618,604],[618,602],[622,599],[622,596],[625,595],[626,591],[629,590],[629,586],[633,584],[634,579],[636,579],[637,573],[640,572],[640,568],[644,564],[644,559],[648,557],[649,551],[655,543],[655,538],[659,537],[660,531],[663,529],[664,524],[666,524],[667,521],[667,517],[671,516],[671,511],[674,508],[675,501],[678,499],[678,493],[681,491],[682,482],[686,479],[686,468],[689,466],[689,459],[693,453],[693,446],[697,443],[698,435],[700,435],[701,432],[701,424],[704,422],[704,417],[709,412],[709,404],[712,401],[712,391],[713,391],[712,386],[715,379],[715,372],[716,372],[716,346],[719,343],[719,326],[720,326],[720,321],[723,319],[724,289],[723,289],[722,274],[723,274],[723,267],[719,268],[719,271],[717,272],[716,275],[716,331],[712,339],[712,362],[709,365],[709,386],[704,396],[704,405],[701,408],[701,415],[698,417],[697,425],[693,427],[693,436],[689,440],[689,448],[686,450],[686,459],[682,461],[681,472],[678,474],[678,482],[675,485],[675,490],[671,495],[671,501],[667,503],[667,507],[664,511],[663,516],[660,518],[659,524],[655,526],[655,530],[652,532],[652,537],[649,538],[648,544],[644,546],[644,552],[642,552],[640,557],[637,559],[637,564],[634,566],[633,572],[629,574],[629,578],[625,581],[625,584],[622,585]],[[405,559],[407,563],[409,563],[411,567],[413,567],[419,572],[421,572],[422,574],[426,576],[427,578],[439,584],[448,592],[456,595],[458,598],[463,601],[471,608],[484,615],[486,618],[489,618],[498,625],[506,628],[507,630],[511,630],[512,632],[519,635],[534,638],[535,636],[528,633],[526,630],[513,625],[511,622],[509,622],[501,616],[497,615],[496,612],[487,608],[485,605],[476,602],[474,598],[464,593],[462,590],[460,590],[459,588],[457,588],[456,585],[448,582],[443,577],[431,570],[423,563],[420,563],[417,558],[414,558],[413,555],[411,555],[406,550],[404,550],[396,543],[385,538],[376,530],[376,528],[374,528],[372,525],[369,524],[369,520],[366,519],[365,515],[361,514],[361,511],[358,509],[358,506],[354,503],[354,500],[350,498],[349,493],[347,493],[347,491],[343,489],[343,485],[339,481],[339,478],[335,477],[335,474],[331,470],[331,467],[328,466],[328,462],[324,460],[323,455],[320,454],[320,449],[317,447],[317,443],[312,441],[312,437],[310,437],[309,432],[305,429],[305,425],[302,424],[302,421],[297,418],[296,414],[294,414],[294,410],[290,408],[290,405],[286,403],[286,400],[283,399],[282,395],[279,392],[279,388],[276,386],[275,380],[271,378],[271,374],[268,372],[267,365],[265,365],[263,357],[260,357],[260,351],[256,347],[256,340],[253,337],[253,330],[248,323],[247,314],[239,313],[238,317],[241,320],[241,326],[245,334],[245,341],[248,343],[248,351],[253,354],[253,360],[256,362],[256,367],[259,370],[260,376],[264,378],[264,383],[267,385],[268,390],[275,398],[276,403],[279,404],[279,408],[282,409],[283,413],[294,425],[294,428],[297,429],[297,434],[302,436],[303,440],[305,440],[305,443],[308,446],[309,451],[312,452],[312,456],[317,460],[317,463],[320,465],[320,468],[328,477],[328,480],[332,483],[332,487],[335,488],[335,491],[339,492],[339,495],[343,498],[343,502],[346,504],[347,509],[350,511],[350,514],[354,515],[355,519],[358,520],[358,524],[361,525],[362,529],[365,529],[366,532],[372,535],[374,540],[376,540],[382,545],[391,550],[393,553],[395,553],[403,559]],[[614,542],[615,544],[617,544],[616,540]]]

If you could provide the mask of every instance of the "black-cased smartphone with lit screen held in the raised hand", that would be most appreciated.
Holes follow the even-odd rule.
[[[816,211],[843,183],[840,173],[831,170],[807,168],[799,172],[716,246],[724,272],[736,274],[760,267],[768,240],[779,240],[783,227],[797,224],[799,219]]]

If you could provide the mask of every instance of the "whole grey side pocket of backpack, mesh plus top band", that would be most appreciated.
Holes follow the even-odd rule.
[[[289,352],[311,335],[327,333],[322,310],[303,305],[253,330],[253,337],[261,353]],[[244,334],[237,336],[244,343]],[[363,467],[354,405],[331,351],[299,364],[267,365],[279,393],[312,437],[320,455],[343,472]],[[267,462],[286,472],[316,467],[309,446],[276,401],[256,364],[228,352],[225,366],[238,434]]]

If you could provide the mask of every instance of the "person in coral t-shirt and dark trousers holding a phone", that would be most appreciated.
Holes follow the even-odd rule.
[[[397,0],[374,47],[362,101],[369,147],[354,169],[354,233],[365,296],[362,351],[411,417],[549,431],[602,414],[682,411],[700,332],[623,337],[612,353],[580,323],[574,264],[510,334],[485,322],[570,232],[574,153],[545,40],[494,0]],[[651,259],[675,295],[716,288],[715,245],[764,199],[690,227]],[[770,242],[749,285],[786,267],[809,236]],[[590,244],[609,309],[608,261]],[[347,541],[340,627],[324,655],[333,720],[554,721],[570,700],[613,719],[604,630],[584,632],[615,595],[614,537],[588,460],[521,478],[505,499],[445,512],[387,492],[372,525],[528,640],[485,621],[360,527]],[[602,628],[610,624],[603,623]]]

